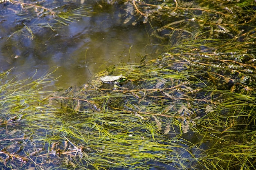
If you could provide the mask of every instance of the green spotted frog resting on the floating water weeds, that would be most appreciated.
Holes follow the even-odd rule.
[[[108,75],[97,78],[96,80],[92,80],[92,86],[95,90],[106,84],[114,84],[114,90],[120,87],[120,84],[126,82],[128,80],[127,77],[123,75]]]

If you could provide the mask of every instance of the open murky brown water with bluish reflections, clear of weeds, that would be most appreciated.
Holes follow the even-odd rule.
[[[91,12],[78,22],[63,26],[56,32],[40,29],[34,40],[13,36],[16,24],[13,15],[5,15],[0,23],[0,69],[14,67],[14,74],[38,76],[58,66],[54,76],[63,87],[88,82],[92,74],[120,62],[139,62],[137,54],[150,53],[143,25],[124,25],[124,11],[116,5],[101,12]],[[9,30],[9,31],[7,31]]]

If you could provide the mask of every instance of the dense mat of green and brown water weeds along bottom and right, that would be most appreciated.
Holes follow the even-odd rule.
[[[128,77],[117,90],[51,92],[50,73],[2,72],[0,166],[255,169],[255,2],[120,3],[150,23],[162,55],[107,68]]]

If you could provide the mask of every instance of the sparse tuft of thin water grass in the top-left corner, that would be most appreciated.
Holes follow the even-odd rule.
[[[62,25],[77,22],[81,17],[88,17],[90,7],[80,4],[74,7],[72,2],[20,2],[16,0],[2,0],[0,2],[1,15],[13,15],[16,18],[16,28],[9,38],[22,35],[31,40],[35,33],[40,33],[44,28],[58,34],[57,29]],[[4,21],[4,20],[3,20]],[[2,22],[3,22],[2,21]]]

